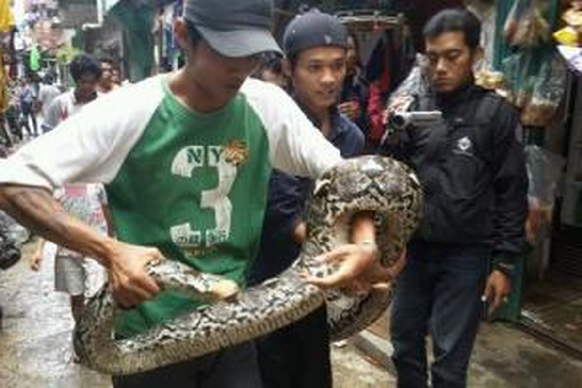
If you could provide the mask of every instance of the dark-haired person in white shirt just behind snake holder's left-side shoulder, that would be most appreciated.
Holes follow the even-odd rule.
[[[101,77],[99,62],[92,56],[81,54],[69,63],[69,70],[75,87],[56,97],[49,106],[43,123],[47,132],[97,98],[96,88]]]

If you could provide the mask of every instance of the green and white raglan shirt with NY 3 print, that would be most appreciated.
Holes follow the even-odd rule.
[[[0,161],[0,184],[104,183],[120,240],[243,284],[271,169],[315,178],[339,160],[278,87],[249,79],[228,105],[205,114],[156,76],[100,97]],[[139,333],[195,306],[161,293],[122,314],[118,333]]]

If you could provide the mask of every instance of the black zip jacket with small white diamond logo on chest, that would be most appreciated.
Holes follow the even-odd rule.
[[[494,254],[524,247],[527,174],[519,113],[477,86],[423,95],[410,110],[443,112],[443,123],[407,127],[382,153],[409,163],[424,188],[417,240],[485,245]]]

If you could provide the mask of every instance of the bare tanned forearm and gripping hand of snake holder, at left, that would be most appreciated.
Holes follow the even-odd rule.
[[[113,293],[121,304],[138,304],[158,293],[143,269],[162,257],[157,249],[102,236],[70,216],[45,188],[0,185],[0,208],[45,239],[100,261],[109,269]]]

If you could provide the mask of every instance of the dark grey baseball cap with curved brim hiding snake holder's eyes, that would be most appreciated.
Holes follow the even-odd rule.
[[[232,58],[277,52],[271,34],[272,0],[186,0],[190,22],[219,54]]]

